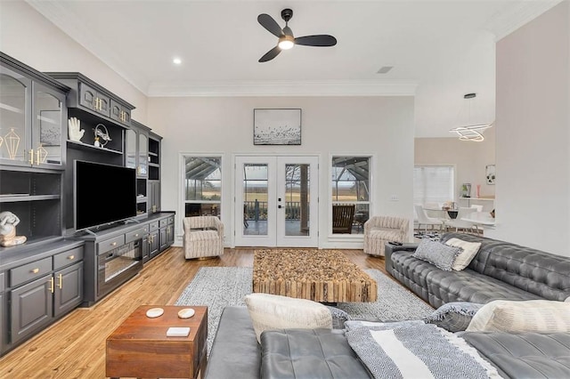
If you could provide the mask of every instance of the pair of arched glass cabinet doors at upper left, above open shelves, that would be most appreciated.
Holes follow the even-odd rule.
[[[0,66],[0,163],[62,168],[66,92]],[[68,89],[69,90],[69,89]]]

